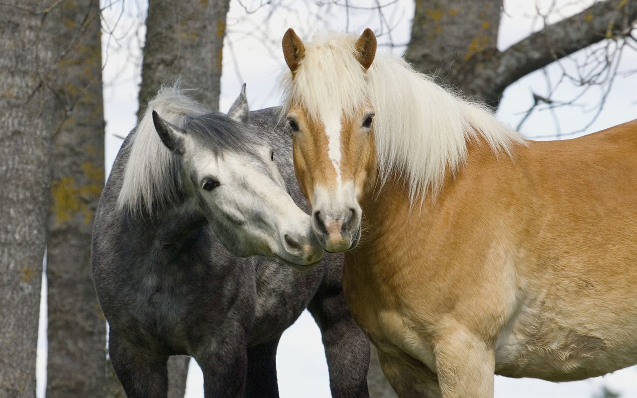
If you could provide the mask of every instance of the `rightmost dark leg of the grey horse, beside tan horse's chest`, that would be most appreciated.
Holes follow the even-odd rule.
[[[340,274],[326,275],[308,310],[321,332],[332,396],[369,397],[369,341],[347,309]]]

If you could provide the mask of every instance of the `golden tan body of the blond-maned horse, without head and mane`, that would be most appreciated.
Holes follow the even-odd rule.
[[[436,391],[433,372],[444,397],[490,397],[493,373],[636,364],[636,154],[637,120],[512,159],[474,143],[421,211],[396,179],[368,195],[343,289],[396,385]]]

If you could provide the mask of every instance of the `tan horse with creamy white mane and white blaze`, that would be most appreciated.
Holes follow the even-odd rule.
[[[375,52],[283,37],[296,176],[324,248],[356,247],[343,290],[396,392],[636,364],[637,122],[526,141]]]

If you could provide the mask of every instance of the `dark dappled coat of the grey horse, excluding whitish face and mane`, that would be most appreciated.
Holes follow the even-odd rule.
[[[250,112],[250,129],[274,148],[290,194],[308,211],[294,176],[290,133],[277,124],[279,113],[278,108]],[[201,132],[211,146],[237,148],[233,134],[246,127],[214,118],[186,118],[185,127]],[[224,132],[210,136],[210,129]],[[276,346],[283,330],[308,308],[322,333],[333,396],[368,397],[369,344],[345,307],[342,255],[326,253],[306,273],[272,259],[233,257],[197,199],[182,188],[169,204],[133,217],[131,208],[117,204],[131,137],[104,187],[92,243],[95,287],[110,324],[111,361],[127,395],[165,398],[166,360],[184,354],[201,366],[206,398],[278,397]],[[176,179],[178,174],[172,173]]]

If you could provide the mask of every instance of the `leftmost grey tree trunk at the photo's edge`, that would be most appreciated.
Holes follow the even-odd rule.
[[[36,392],[55,98],[43,1],[0,4],[0,397]]]

